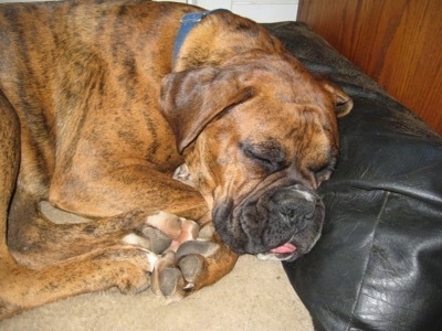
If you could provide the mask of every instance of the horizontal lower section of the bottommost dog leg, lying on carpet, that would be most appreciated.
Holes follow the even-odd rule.
[[[137,292],[149,286],[156,255],[128,245],[99,248],[62,263],[29,268],[10,257],[0,268],[0,320],[48,302],[118,287]]]

